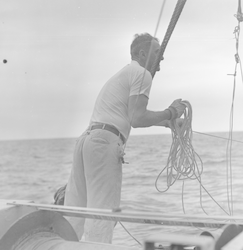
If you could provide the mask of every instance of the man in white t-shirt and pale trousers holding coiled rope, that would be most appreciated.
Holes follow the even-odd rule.
[[[151,69],[159,52],[158,39],[145,33],[131,44],[131,64],[115,74],[96,100],[90,124],[78,139],[73,168],[66,187],[65,205],[114,209],[120,205],[124,144],[131,127],[169,126],[185,106],[175,100],[164,111],[147,110]],[[158,66],[157,71],[160,68]],[[115,223],[69,218],[81,238],[112,242]]]

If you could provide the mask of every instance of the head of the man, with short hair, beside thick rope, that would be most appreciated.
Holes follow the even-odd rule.
[[[160,44],[156,37],[148,33],[136,34],[131,44],[131,57],[132,60],[137,61],[142,67],[151,71],[157,54],[159,53]],[[158,65],[157,71],[160,70]]]

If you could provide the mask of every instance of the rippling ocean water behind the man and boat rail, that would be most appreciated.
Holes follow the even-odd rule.
[[[198,166],[203,164],[201,183],[204,188],[200,194],[198,180],[191,179],[184,181],[184,189],[181,180],[166,192],[156,189],[156,178],[166,166],[170,154],[170,134],[131,136],[125,150],[125,161],[129,164],[123,165],[121,208],[124,211],[195,215],[204,215],[205,212],[208,215],[226,215],[231,211],[242,216],[243,132],[233,133],[233,140],[237,141],[231,143],[230,157],[226,153],[228,141],[222,138],[228,138],[228,133],[193,134],[192,145],[201,158],[201,162],[196,159]],[[0,141],[0,198],[53,203],[55,191],[68,180],[75,141],[75,138]],[[166,185],[167,175],[163,173],[157,181],[157,188],[162,191]],[[231,187],[233,202],[229,203],[227,191],[230,192]],[[204,230],[135,223],[123,225],[141,243],[155,233],[200,234]],[[139,246],[127,231],[118,223],[113,243]],[[220,234],[220,230],[212,231]]]

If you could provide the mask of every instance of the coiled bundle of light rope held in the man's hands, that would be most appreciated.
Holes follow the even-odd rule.
[[[203,164],[194,151],[192,146],[192,107],[188,101],[183,101],[186,105],[184,112],[184,122],[179,127],[176,121],[172,121],[172,145],[165,168],[158,175],[155,187],[159,192],[166,192],[176,180],[197,179],[200,181],[203,172]],[[199,168],[196,158],[200,159],[201,167]],[[163,191],[157,187],[157,182],[161,174],[167,172],[167,188]]]

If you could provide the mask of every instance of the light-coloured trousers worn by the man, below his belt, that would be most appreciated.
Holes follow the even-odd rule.
[[[106,130],[87,130],[76,143],[73,167],[65,193],[67,206],[113,209],[120,206],[121,139]],[[112,243],[114,221],[67,217],[81,239]]]

